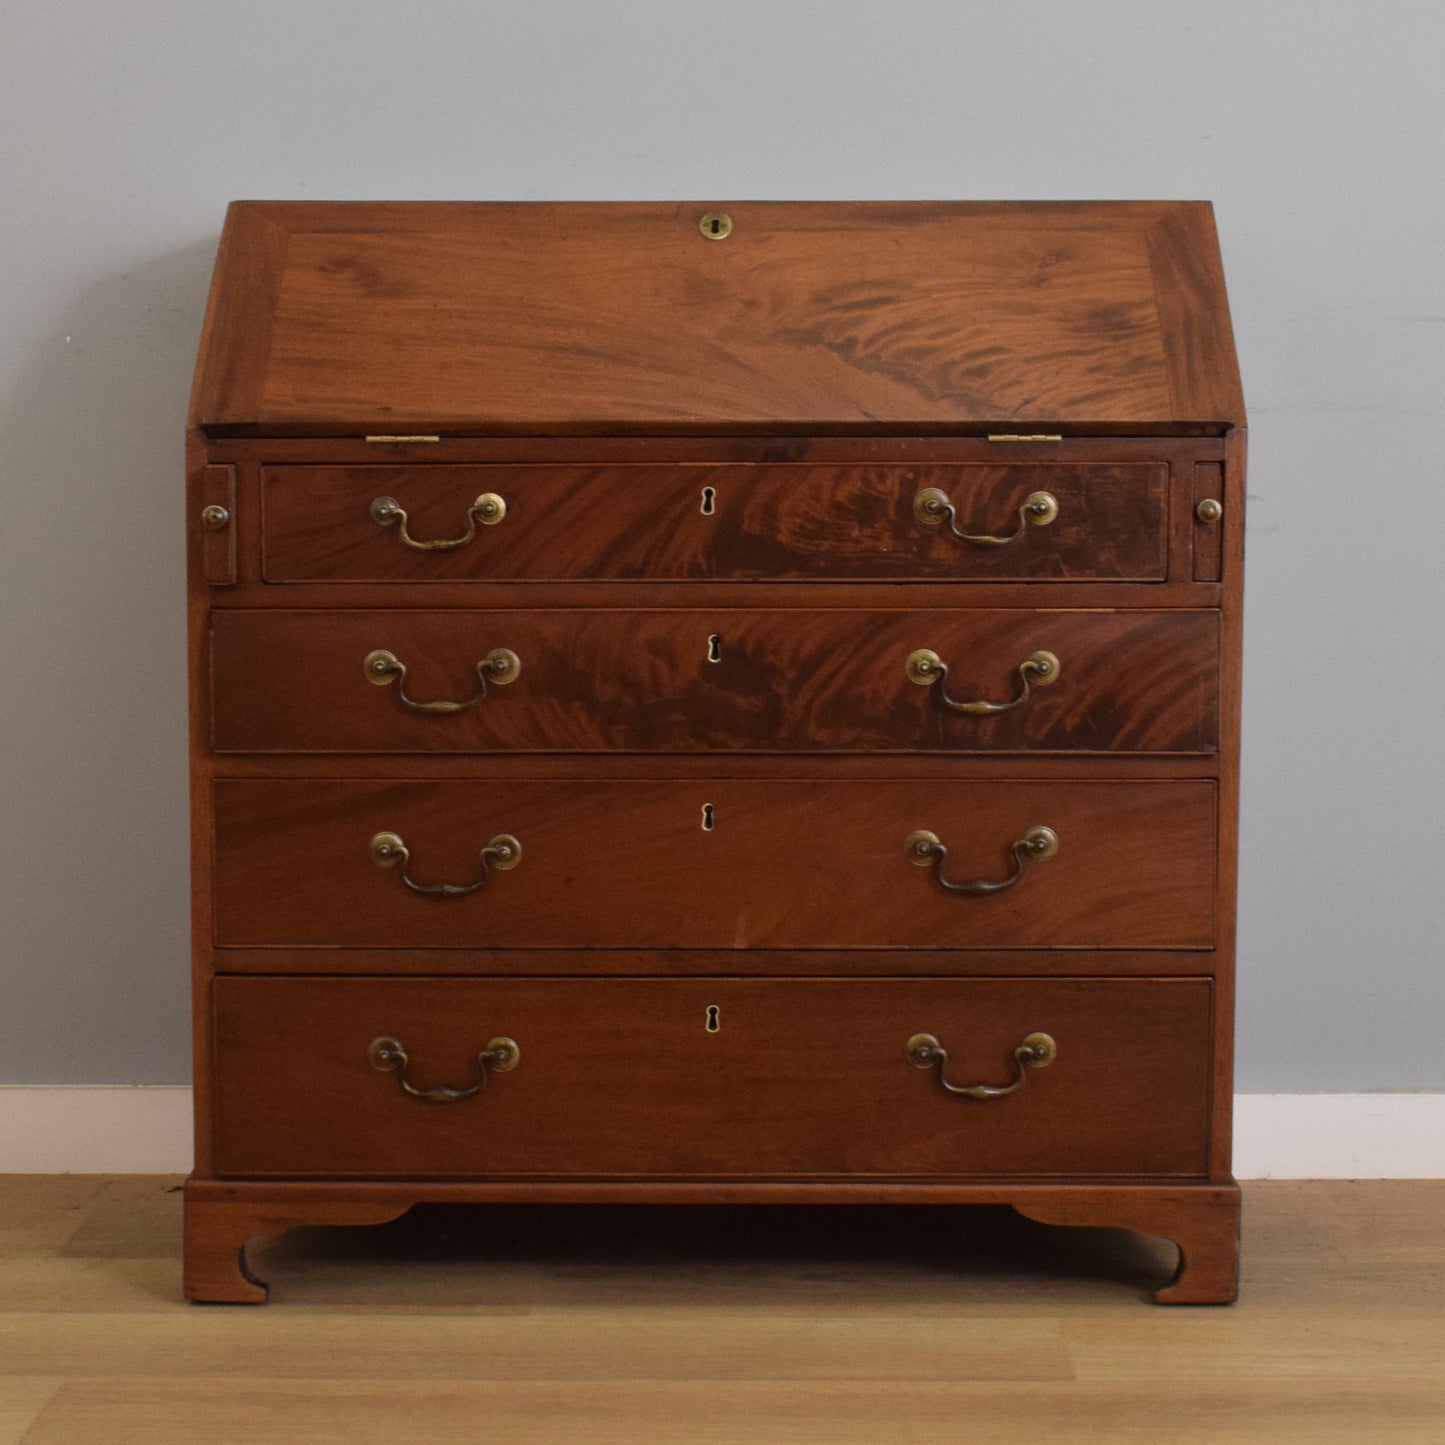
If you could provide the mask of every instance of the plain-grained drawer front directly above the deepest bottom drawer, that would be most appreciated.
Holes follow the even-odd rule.
[[[1212,941],[1212,782],[224,779],[214,799],[221,946]],[[509,835],[520,861],[484,861]]]

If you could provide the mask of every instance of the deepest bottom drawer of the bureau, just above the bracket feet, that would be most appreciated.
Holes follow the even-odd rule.
[[[1207,978],[212,987],[223,1176],[1205,1172]],[[925,1033],[942,1068],[906,1056]],[[1035,1033],[1056,1049],[1043,1066],[1016,1053]],[[497,1038],[516,1042],[514,1066],[480,1069]],[[462,1094],[458,1098],[406,1087]],[[1022,1084],[970,1097],[944,1078]]]

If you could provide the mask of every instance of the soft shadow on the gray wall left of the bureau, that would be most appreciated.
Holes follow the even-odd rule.
[[[189,1077],[182,444],[215,243],[0,342],[0,1082]]]

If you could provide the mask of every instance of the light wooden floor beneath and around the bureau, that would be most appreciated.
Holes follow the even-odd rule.
[[[0,1445],[1445,1442],[1445,1182],[1246,1186],[1244,1292],[1010,1211],[413,1211],[185,1305],[176,1181],[0,1176]]]

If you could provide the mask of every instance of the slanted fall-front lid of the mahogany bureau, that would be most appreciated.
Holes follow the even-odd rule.
[[[1189,435],[1244,406],[1207,202],[241,201],[191,419]]]

